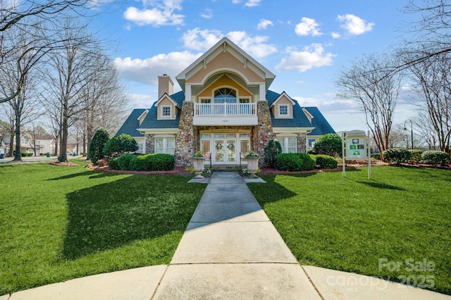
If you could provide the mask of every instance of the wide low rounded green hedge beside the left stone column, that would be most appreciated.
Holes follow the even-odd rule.
[[[144,154],[135,156],[130,161],[130,169],[135,171],[168,171],[175,166],[171,154]]]

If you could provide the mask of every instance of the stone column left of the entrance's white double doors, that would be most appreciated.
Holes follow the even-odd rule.
[[[175,136],[175,165],[178,167],[192,167],[192,154],[194,149],[194,130],[192,117],[194,104],[192,101],[183,101],[180,112],[178,134]]]

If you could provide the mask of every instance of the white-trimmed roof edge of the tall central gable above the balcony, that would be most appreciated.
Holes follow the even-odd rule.
[[[259,63],[254,58],[252,58],[252,56],[249,56],[249,54],[247,54],[245,51],[243,51],[235,43],[230,41],[230,39],[228,39],[228,37],[223,37],[222,39],[219,40],[219,42],[217,42],[214,46],[212,46],[209,50],[207,50],[204,54],[202,54],[202,56],[197,58],[197,60],[194,61],[194,63],[189,65],[179,75],[175,76],[175,79],[178,81],[178,83],[183,91],[185,91],[185,81],[187,80],[187,78],[186,78],[187,74],[190,73],[190,71],[193,70],[197,65],[199,65],[199,63],[202,63],[203,61],[205,61],[206,58],[208,58],[211,54],[214,53],[214,51],[216,51],[216,49],[218,49],[221,46],[225,47],[226,44],[228,46],[231,46],[235,51],[237,51],[238,54],[240,54],[244,58],[243,63],[245,63],[246,61],[249,61],[250,63],[255,65],[259,70],[261,70],[262,73],[264,73],[266,89],[268,89],[268,87],[273,82],[274,78],[276,78],[276,75],[274,75],[270,70],[265,68],[264,65],[261,65],[261,63]]]

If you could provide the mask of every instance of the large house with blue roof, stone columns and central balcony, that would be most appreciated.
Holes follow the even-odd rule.
[[[278,139],[283,152],[305,152],[334,132],[318,108],[301,107],[286,92],[269,89],[276,75],[224,37],[175,77],[159,76],[159,99],[135,109],[117,135],[131,135],[141,153],[173,154],[191,166],[202,151],[214,165],[245,165],[245,154]]]

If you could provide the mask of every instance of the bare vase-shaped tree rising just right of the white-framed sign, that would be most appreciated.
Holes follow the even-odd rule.
[[[388,65],[394,65],[388,54],[369,55],[338,75],[337,96],[357,101],[365,114],[366,125],[382,153],[389,146],[393,113],[400,94],[402,73],[385,76]]]

